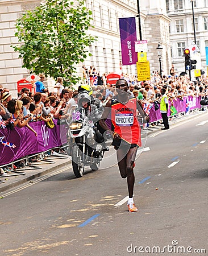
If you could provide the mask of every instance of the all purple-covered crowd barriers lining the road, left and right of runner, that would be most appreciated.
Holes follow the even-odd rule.
[[[183,101],[173,100],[173,106],[177,113],[185,113],[188,108],[189,110],[201,108],[200,101],[201,97],[188,96],[184,97]],[[170,115],[170,110],[168,115]],[[160,110],[155,110],[154,105],[150,110],[149,117],[150,122],[162,119]],[[15,127],[13,130],[0,129],[0,167],[13,164],[26,156],[28,159],[31,155],[40,154],[66,144],[67,128],[65,125],[57,125],[57,119],[54,120],[54,123],[55,127],[49,129],[43,121],[31,122],[30,126],[38,133],[38,137],[28,127]]]

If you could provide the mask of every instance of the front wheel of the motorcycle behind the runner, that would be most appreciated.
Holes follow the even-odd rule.
[[[82,177],[84,174],[84,163],[81,161],[82,151],[77,147],[72,150],[72,168],[76,177]]]

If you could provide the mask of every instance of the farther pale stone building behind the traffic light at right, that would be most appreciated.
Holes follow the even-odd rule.
[[[172,62],[178,73],[185,71],[184,49],[194,43],[193,13],[195,38],[200,50],[197,69],[206,71],[205,47],[208,46],[208,0],[166,0],[170,22],[170,47]],[[193,59],[195,57],[193,56]]]

